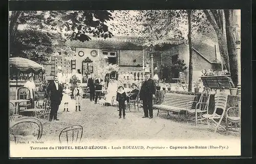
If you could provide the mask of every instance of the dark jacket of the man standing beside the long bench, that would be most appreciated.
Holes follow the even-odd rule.
[[[156,83],[153,79],[143,81],[140,89],[140,99],[152,99],[152,95],[156,94]]]

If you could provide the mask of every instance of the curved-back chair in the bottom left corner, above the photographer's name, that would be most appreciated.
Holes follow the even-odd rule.
[[[39,119],[32,117],[22,117],[10,122],[11,138],[14,138],[15,144],[17,140],[36,138],[39,140],[42,136],[42,124]]]

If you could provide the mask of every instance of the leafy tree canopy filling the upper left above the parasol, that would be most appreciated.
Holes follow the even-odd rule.
[[[72,53],[66,40],[112,37],[106,21],[110,11],[12,11],[9,19],[11,57],[48,62],[56,50]]]

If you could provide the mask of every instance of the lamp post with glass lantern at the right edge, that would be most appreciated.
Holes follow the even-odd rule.
[[[236,42],[236,51],[238,55],[238,107],[241,112],[241,29],[239,25],[236,25],[232,31],[232,36]],[[241,114],[241,113],[240,113]]]

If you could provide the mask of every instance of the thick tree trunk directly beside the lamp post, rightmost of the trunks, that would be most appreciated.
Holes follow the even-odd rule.
[[[227,50],[230,63],[231,79],[235,86],[238,84],[238,54],[236,52],[236,43],[234,42],[232,31],[236,25],[236,13],[233,10],[225,10],[226,17],[226,35]]]

